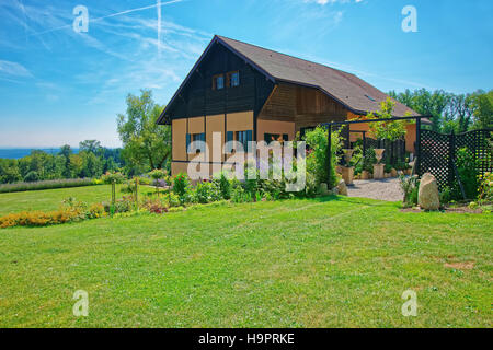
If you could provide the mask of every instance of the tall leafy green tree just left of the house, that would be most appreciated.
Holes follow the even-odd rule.
[[[127,112],[117,117],[123,158],[133,166],[165,167],[171,155],[171,128],[156,124],[163,107],[152,101],[149,90],[140,96],[128,94]]]

